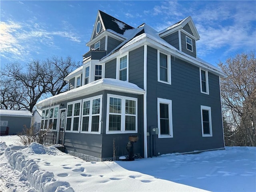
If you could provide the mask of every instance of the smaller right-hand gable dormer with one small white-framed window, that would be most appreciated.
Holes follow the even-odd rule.
[[[200,39],[200,36],[190,16],[158,32],[158,34],[176,49],[197,58],[196,41]]]

